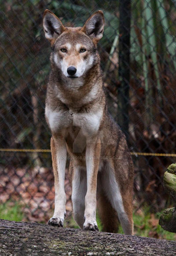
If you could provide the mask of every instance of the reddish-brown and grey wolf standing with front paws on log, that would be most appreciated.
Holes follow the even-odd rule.
[[[70,156],[73,217],[85,230],[133,234],[133,164],[125,135],[107,110],[97,43],[104,17],[97,11],[83,27],[65,27],[44,11],[45,37],[51,42],[51,71],[45,116],[51,129],[55,211],[48,224],[63,226],[67,152]]]

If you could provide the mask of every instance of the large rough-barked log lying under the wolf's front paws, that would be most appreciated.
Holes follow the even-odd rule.
[[[176,242],[0,220],[0,255],[176,255]]]

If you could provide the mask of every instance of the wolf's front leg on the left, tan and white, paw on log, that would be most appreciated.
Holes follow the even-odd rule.
[[[55,176],[55,211],[48,224],[62,227],[66,215],[66,193],[64,189],[66,142],[63,138],[51,137],[51,154]]]

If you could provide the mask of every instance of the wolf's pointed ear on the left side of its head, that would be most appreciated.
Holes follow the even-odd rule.
[[[51,43],[53,43],[55,39],[64,31],[64,26],[60,19],[49,10],[44,11],[43,26],[45,37],[51,41]]]

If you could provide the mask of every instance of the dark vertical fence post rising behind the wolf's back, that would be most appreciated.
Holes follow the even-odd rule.
[[[131,0],[119,0],[119,81],[117,88],[117,120],[128,139],[128,106],[130,83],[130,22]]]

